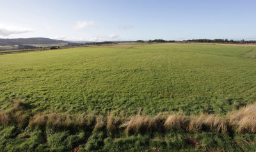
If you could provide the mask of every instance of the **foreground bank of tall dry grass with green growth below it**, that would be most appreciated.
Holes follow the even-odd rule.
[[[256,105],[226,116],[32,114],[13,102],[0,114],[1,151],[253,151]]]

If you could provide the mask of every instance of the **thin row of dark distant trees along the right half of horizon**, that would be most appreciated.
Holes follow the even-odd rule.
[[[233,39],[188,39],[188,40],[183,40],[183,41],[175,41],[175,40],[164,40],[164,39],[154,39],[154,40],[148,40],[148,41],[143,41],[143,40],[138,40],[136,41],[138,43],[246,43],[244,39],[241,41],[234,41]],[[255,43],[255,41],[250,40],[247,41],[247,43]]]

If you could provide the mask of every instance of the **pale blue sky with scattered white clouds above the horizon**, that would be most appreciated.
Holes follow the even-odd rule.
[[[256,1],[1,0],[0,38],[256,39]]]

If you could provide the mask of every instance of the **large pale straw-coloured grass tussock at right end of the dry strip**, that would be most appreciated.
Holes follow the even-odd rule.
[[[237,128],[237,132],[256,132],[256,104],[250,104],[228,114],[230,123]]]

